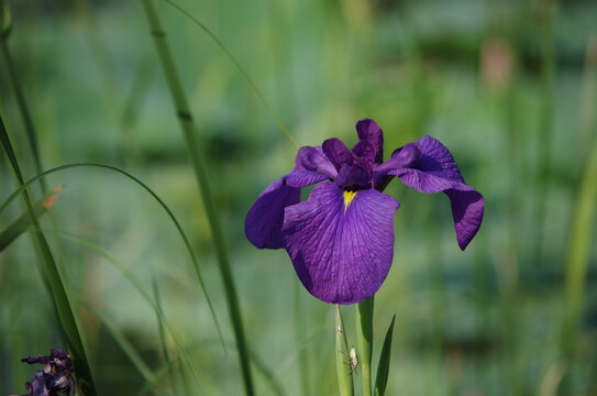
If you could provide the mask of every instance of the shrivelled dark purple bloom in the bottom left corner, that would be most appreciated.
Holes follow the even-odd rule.
[[[35,371],[35,378],[25,384],[26,395],[23,396],[56,396],[75,394],[75,380],[70,355],[62,348],[53,349],[49,356],[24,358],[21,362],[27,364],[45,364],[43,371]]]

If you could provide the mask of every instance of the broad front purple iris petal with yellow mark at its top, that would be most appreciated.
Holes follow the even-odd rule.
[[[373,296],[391,266],[398,201],[375,189],[346,198],[350,193],[324,182],[307,201],[286,208],[284,246],[301,283],[325,302]]]

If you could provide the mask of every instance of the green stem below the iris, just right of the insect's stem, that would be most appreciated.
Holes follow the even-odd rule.
[[[356,345],[363,373],[363,396],[371,396],[371,358],[373,352],[373,308],[375,295],[356,306]]]

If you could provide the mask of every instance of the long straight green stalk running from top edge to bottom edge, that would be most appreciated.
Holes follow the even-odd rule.
[[[174,63],[174,57],[166,40],[166,32],[162,25],[155,2],[153,0],[142,0],[142,3],[145,11],[145,16],[147,19],[147,24],[150,25],[150,31],[154,38],[157,55],[164,69],[164,75],[176,108],[178,121],[187,142],[187,148],[189,150],[197,182],[200,187],[199,189],[201,193],[203,207],[208,216],[208,221],[212,233],[212,241],[215,249],[215,256],[218,260],[218,267],[224,284],[228,310],[232,321],[232,329],[234,331],[236,346],[239,349],[239,359],[243,373],[245,392],[247,395],[253,395],[253,380],[251,377],[248,348],[244,336],[241,308],[239,305],[239,298],[236,296],[234,278],[230,268],[230,258],[228,256],[224,233],[222,231],[222,226],[220,224],[215,200],[213,199],[213,194],[211,193],[211,184],[208,177],[206,161],[196,138],[195,124],[192,122],[192,116],[187,102],[187,97],[185,95],[183,84],[180,82],[180,77]]]

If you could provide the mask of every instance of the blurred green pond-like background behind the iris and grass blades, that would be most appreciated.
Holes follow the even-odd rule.
[[[351,146],[356,121],[372,118],[385,131],[386,157],[432,135],[485,196],[484,223],[463,253],[445,196],[397,182],[386,189],[401,202],[394,265],[376,295],[374,361],[397,317],[388,395],[597,395],[595,1],[177,3],[234,54],[300,145],[338,136]],[[228,343],[226,354],[183,241],[144,190],[103,169],[53,174],[49,187],[66,188],[42,226],[99,394],[146,385],[115,333],[158,377],[150,394],[172,394],[158,321],[110,260],[150,294],[157,279],[197,369],[191,393],[242,394],[209,224],[140,2],[8,4],[7,44],[44,169],[110,164],[154,189],[190,235]],[[244,238],[244,216],[294,166],[295,148],[221,48],[175,8],[157,6],[208,156],[257,394],[334,395],[333,306],[302,288],[284,250],[259,251]],[[0,100],[32,177],[5,58]],[[0,200],[15,188],[2,153]],[[21,212],[13,204],[0,229]],[[33,377],[20,358],[64,346],[35,261],[29,235],[0,253],[3,395],[23,393]],[[354,307],[344,316],[355,343]]]

